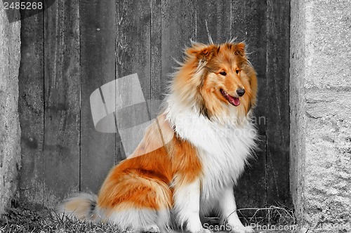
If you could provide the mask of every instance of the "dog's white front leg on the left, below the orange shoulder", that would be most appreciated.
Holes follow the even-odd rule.
[[[186,224],[186,229],[192,233],[206,232],[201,225],[200,211],[200,180],[194,180],[189,184],[175,185],[174,189],[174,211],[176,220],[180,227]]]

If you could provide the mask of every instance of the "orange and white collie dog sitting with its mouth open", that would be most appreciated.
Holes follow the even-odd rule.
[[[253,232],[238,218],[233,187],[256,145],[256,93],[244,43],[192,43],[135,152],[112,168],[97,197],[79,194],[60,213],[140,232],[176,224],[193,233],[210,232],[200,217],[214,210],[232,232]]]

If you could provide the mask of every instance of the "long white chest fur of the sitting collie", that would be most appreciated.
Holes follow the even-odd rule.
[[[239,126],[223,125],[191,112],[168,116],[180,138],[189,140],[198,149],[204,167],[201,199],[220,198],[223,189],[234,185],[244,171],[246,160],[255,146],[253,124],[245,120]]]

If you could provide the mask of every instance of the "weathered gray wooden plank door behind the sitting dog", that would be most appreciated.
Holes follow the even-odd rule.
[[[62,0],[22,11],[21,199],[55,206],[72,192],[98,192],[125,152],[118,132],[95,130],[91,93],[137,73],[145,100],[161,100],[173,58],[210,34],[245,41],[258,73],[259,149],[234,188],[238,206],[289,205],[289,4]],[[149,106],[150,119],[158,107]]]

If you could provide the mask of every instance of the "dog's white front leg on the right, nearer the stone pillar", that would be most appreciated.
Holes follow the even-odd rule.
[[[221,199],[219,200],[220,210],[222,211],[223,219],[227,225],[232,228],[232,232],[236,233],[251,233],[254,232],[251,227],[244,227],[237,215],[237,204],[234,199],[233,187],[226,187]]]

